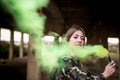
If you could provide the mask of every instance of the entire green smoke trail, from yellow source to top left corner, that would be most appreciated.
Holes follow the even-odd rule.
[[[98,58],[106,57],[108,50],[102,45],[86,45],[76,47],[64,41],[61,45],[46,45],[41,42],[46,17],[37,12],[38,9],[47,6],[48,0],[1,0],[3,7],[10,12],[18,28],[32,36],[32,48],[35,49],[39,63],[48,71],[59,67],[59,59],[72,55],[86,59],[90,55]]]

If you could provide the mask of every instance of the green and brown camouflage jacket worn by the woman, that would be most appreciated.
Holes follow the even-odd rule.
[[[101,74],[92,75],[86,68],[83,70],[75,57],[65,56],[59,62],[62,65],[54,71],[51,80],[105,80]]]

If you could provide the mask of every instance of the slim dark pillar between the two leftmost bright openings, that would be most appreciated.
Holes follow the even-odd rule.
[[[14,31],[11,30],[10,34],[11,34],[11,36],[10,36],[10,46],[9,46],[9,56],[8,56],[8,58],[13,59]]]

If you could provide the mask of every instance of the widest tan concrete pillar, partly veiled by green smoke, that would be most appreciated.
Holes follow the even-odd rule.
[[[32,53],[31,40],[32,38],[30,36],[30,39],[29,39],[30,42],[28,46],[28,59],[27,59],[27,80],[41,80],[38,61],[35,56],[35,53]]]

